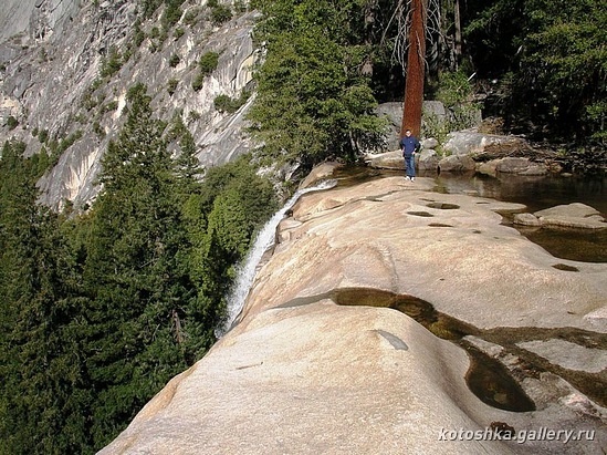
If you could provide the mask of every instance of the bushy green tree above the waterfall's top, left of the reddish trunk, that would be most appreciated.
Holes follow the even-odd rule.
[[[271,159],[311,167],[329,157],[355,161],[377,146],[385,124],[360,69],[362,19],[355,1],[264,1],[257,29],[268,56],[258,73],[250,113],[253,133]],[[358,10],[357,10],[358,9]],[[349,25],[346,18],[352,18]]]

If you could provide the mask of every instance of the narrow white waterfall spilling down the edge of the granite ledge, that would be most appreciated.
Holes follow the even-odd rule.
[[[269,248],[274,246],[274,238],[276,235],[276,227],[279,223],[284,218],[284,215],[291,207],[295,205],[297,199],[311,192],[318,192],[322,189],[333,188],[337,184],[336,180],[323,180],[320,184],[297,190],[286,204],[274,214],[274,216],[263,226],[255,237],[255,242],[249,255],[247,255],[245,260],[239,266],[237,270],[237,278],[232,290],[228,296],[228,316],[226,322],[216,330],[216,337],[223,337],[233,325],[236,319],[239,317],[247,297],[249,296],[249,290],[253,285],[253,279],[255,278],[257,268],[261,258]]]

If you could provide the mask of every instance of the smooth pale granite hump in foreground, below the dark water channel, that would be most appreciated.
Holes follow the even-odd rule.
[[[439,441],[443,427],[480,431],[505,417],[477,403],[467,364],[463,351],[387,309],[271,310],[228,333],[101,454],[514,453]]]

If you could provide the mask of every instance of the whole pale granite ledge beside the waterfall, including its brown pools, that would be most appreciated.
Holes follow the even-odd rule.
[[[607,265],[502,225],[524,206],[432,187],[304,195],[240,322],[101,454],[604,453]],[[474,352],[519,392],[477,381]]]

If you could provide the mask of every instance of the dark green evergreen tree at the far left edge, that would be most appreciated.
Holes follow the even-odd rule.
[[[0,453],[86,452],[82,299],[59,217],[35,204],[32,162],[0,162]]]

